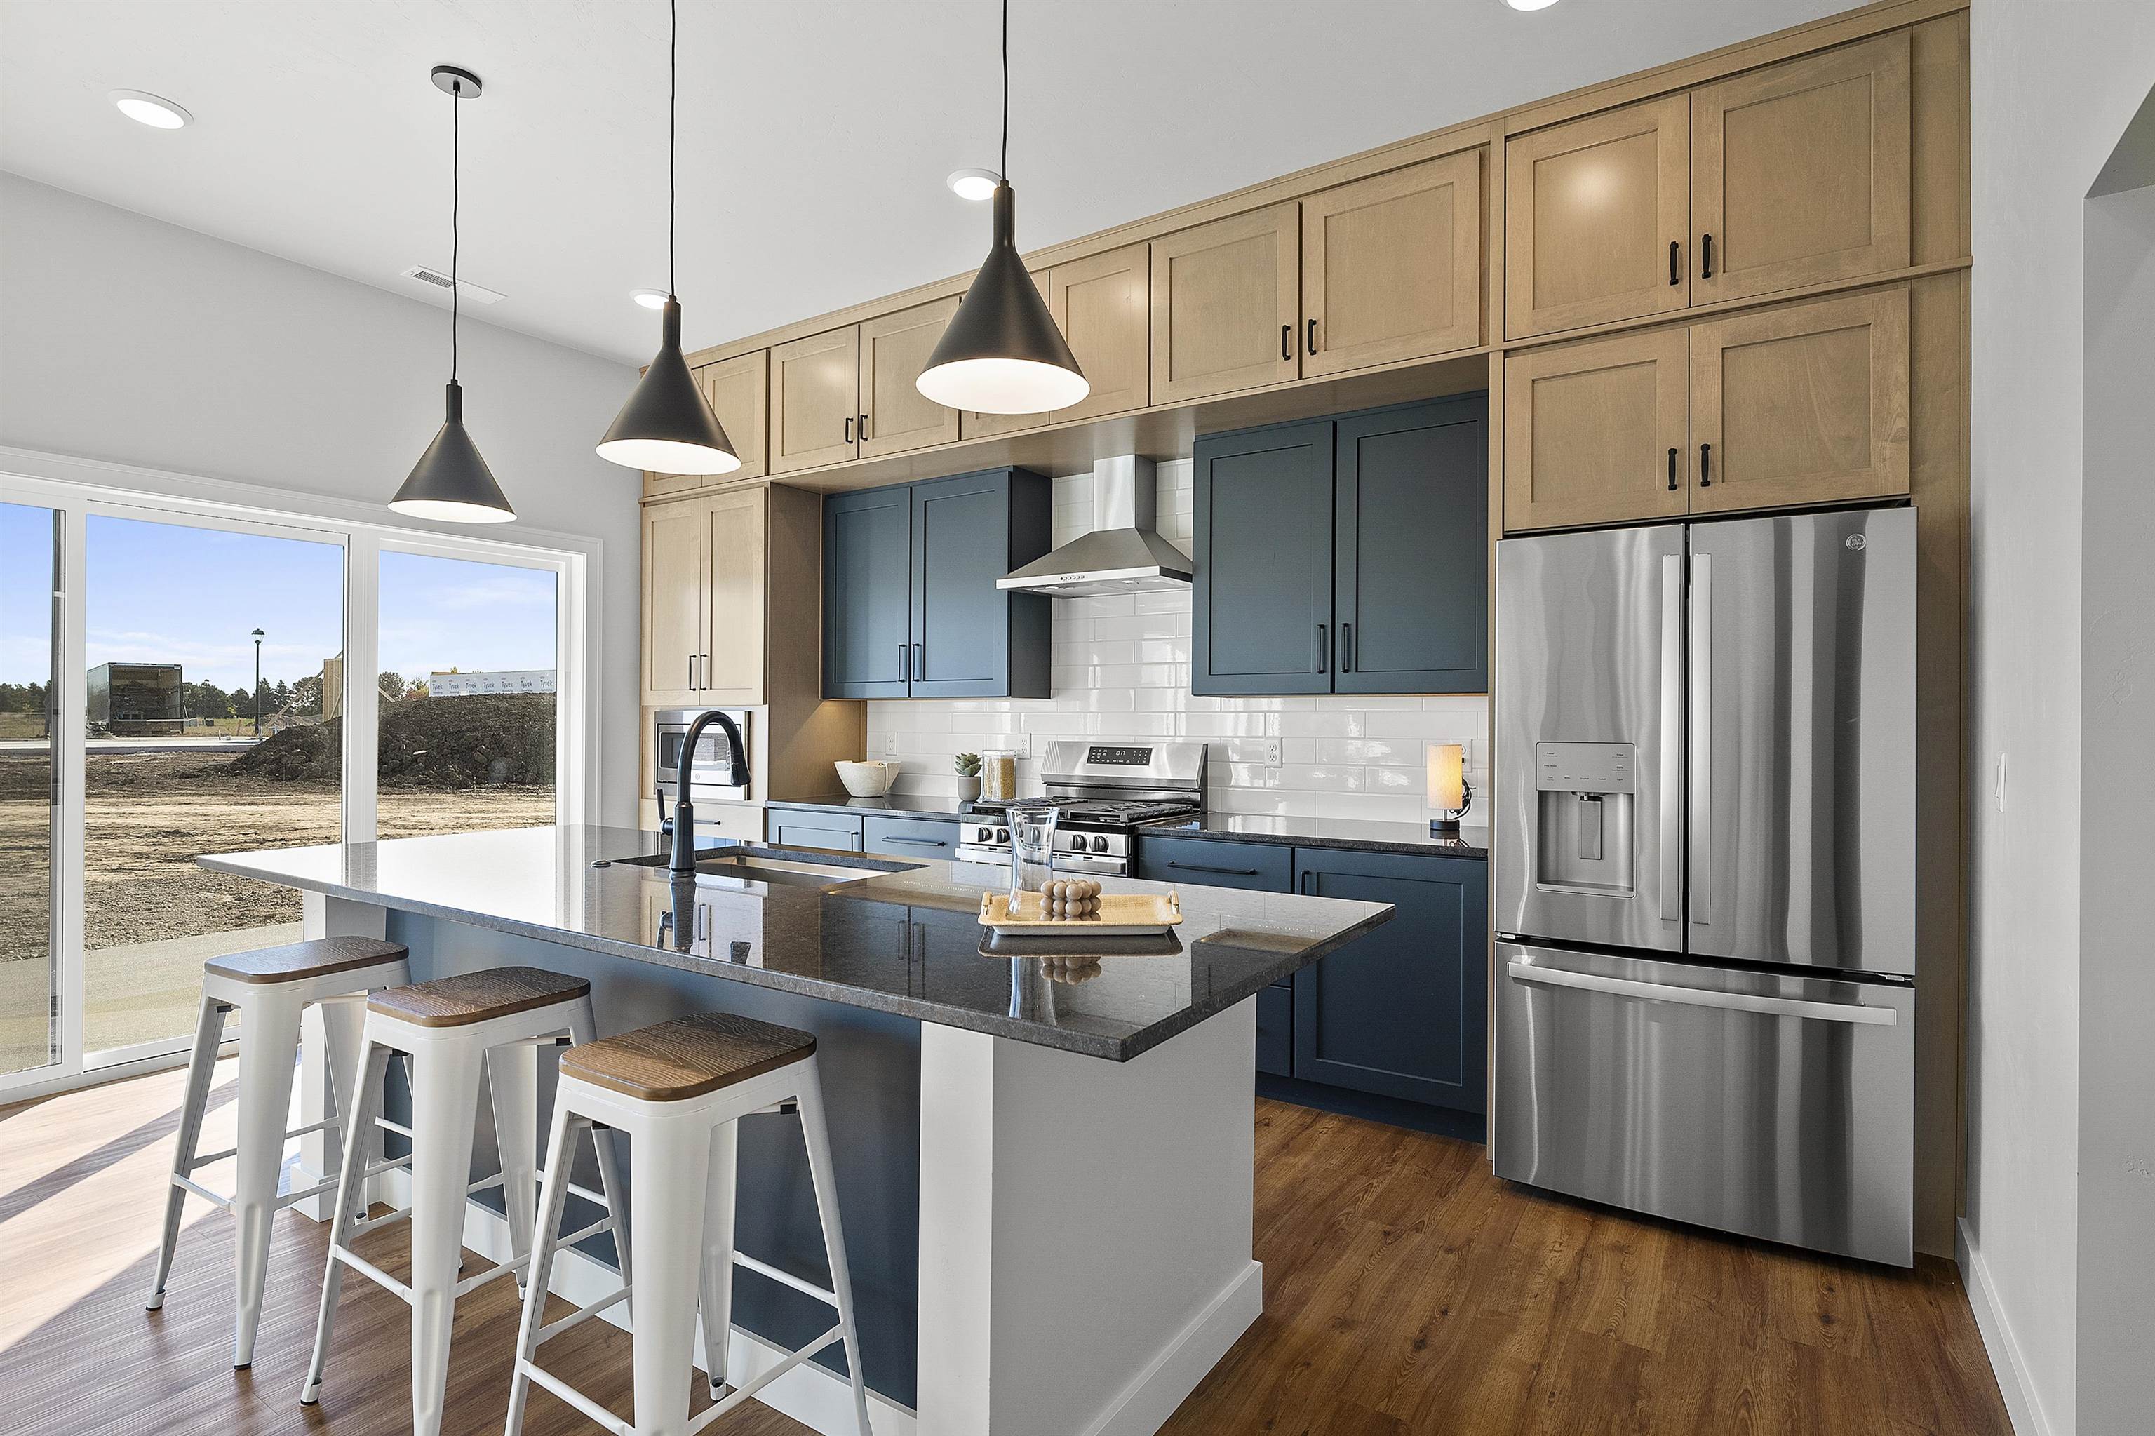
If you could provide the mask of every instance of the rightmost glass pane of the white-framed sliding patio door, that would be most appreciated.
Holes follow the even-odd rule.
[[[554,821],[554,574],[381,554],[386,837]]]

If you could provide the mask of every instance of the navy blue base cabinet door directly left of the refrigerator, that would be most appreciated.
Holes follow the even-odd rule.
[[[1295,972],[1297,1078],[1487,1110],[1487,884],[1480,858],[1295,850],[1297,893],[1399,908]]]

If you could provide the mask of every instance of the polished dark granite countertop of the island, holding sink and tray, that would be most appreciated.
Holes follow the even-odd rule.
[[[800,992],[1065,1052],[1127,1061],[1235,1007],[1362,931],[1388,903],[1181,888],[1170,942],[1095,940],[985,955],[981,895],[998,867],[804,852],[875,875],[834,888],[621,862],[662,852],[634,828],[330,843],[196,858],[203,867],[715,979]],[[705,843],[705,852],[737,843]],[[610,860],[606,867],[593,867]],[[1103,878],[1116,893],[1164,884]],[[1034,949],[1039,951],[1039,949]],[[1097,966],[1095,966],[1097,959]]]

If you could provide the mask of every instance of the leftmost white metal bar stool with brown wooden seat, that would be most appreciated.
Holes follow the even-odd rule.
[[[239,1231],[233,1235],[233,1365],[254,1361],[254,1333],[263,1315],[263,1276],[269,1272],[269,1231],[284,1207],[319,1197],[336,1186],[321,1182],[300,1192],[278,1197],[278,1171],[284,1166],[284,1143],[310,1132],[347,1132],[364,1123],[345,1123],[351,1110],[353,1054],[338,1024],[328,1026],[330,1095],[336,1108],[330,1117],[284,1130],[291,1110],[291,1069],[300,1061],[300,1013],[310,1003],[332,1003],[373,988],[394,988],[412,981],[405,949],[375,938],[310,938],[252,953],[231,953],[203,964],[203,1005],[194,1022],[194,1050],[187,1057],[187,1095],[179,1106],[179,1138],[172,1143],[172,1190],[164,1203],[164,1242],[157,1246],[157,1279],[144,1307],[164,1307],[164,1283],[172,1274],[172,1253],[179,1246],[179,1218],[187,1192],[205,1197],[231,1212]],[[224,1041],[224,1013],[239,1011],[239,1145],[231,1151],[198,1151],[203,1113],[209,1108],[209,1080],[218,1067],[218,1046]],[[349,1143],[347,1143],[349,1145]],[[364,1143],[360,1143],[364,1147]],[[224,1158],[239,1158],[233,1195],[211,1192],[194,1173]]]

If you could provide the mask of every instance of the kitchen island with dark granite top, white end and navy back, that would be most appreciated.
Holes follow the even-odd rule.
[[[802,852],[836,875],[683,882],[638,862],[659,852],[657,834],[556,826],[200,862],[300,888],[310,936],[403,942],[416,981],[506,964],[586,977],[601,1035],[687,1011],[812,1031],[877,1432],[1157,1430],[1263,1309],[1254,998],[1390,908],[1183,888],[1168,942],[989,955],[976,914],[1006,880],[996,867]],[[550,1069],[498,1106],[543,1117]],[[741,1251],[821,1279],[787,1117],[743,1123],[737,1225]],[[500,1240],[474,1203],[465,1242]],[[610,1283],[590,1259],[558,1270],[571,1300]],[[754,1376],[821,1317],[743,1272],[737,1369]],[[817,1363],[765,1395],[849,1430],[845,1384]]]

